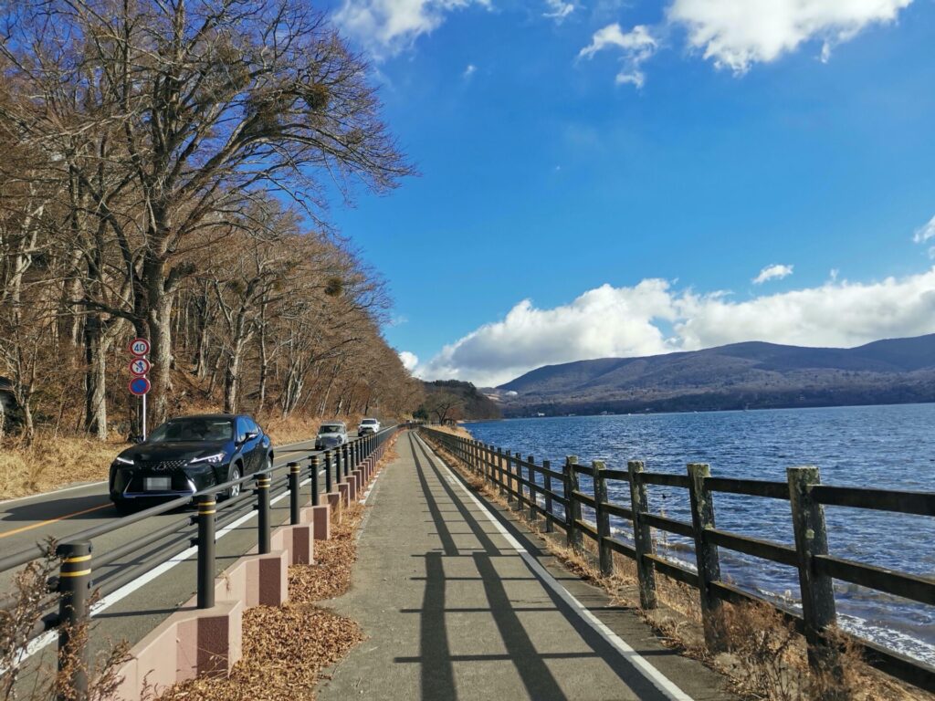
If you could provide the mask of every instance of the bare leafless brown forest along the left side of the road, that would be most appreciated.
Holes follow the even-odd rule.
[[[401,416],[385,285],[329,202],[411,168],[362,59],[301,0],[8,3],[0,432],[112,440],[192,410]],[[2,438],[3,436],[0,436]]]

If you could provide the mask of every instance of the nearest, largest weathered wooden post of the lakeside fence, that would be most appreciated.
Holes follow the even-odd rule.
[[[792,508],[792,531],[798,552],[798,586],[802,595],[802,620],[808,643],[809,665],[820,675],[841,678],[838,651],[822,636],[836,620],[831,578],[815,571],[815,555],[827,555],[825,509],[812,498],[812,486],[821,483],[817,467],[789,467],[789,506]],[[834,694],[826,698],[835,698]]]

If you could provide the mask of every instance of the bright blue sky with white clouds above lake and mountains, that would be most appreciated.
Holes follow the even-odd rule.
[[[935,331],[932,0],[331,9],[422,174],[331,213],[416,374]]]

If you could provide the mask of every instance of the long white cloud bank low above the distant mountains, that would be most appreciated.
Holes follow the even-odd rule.
[[[667,329],[669,331],[667,331]],[[445,346],[418,373],[427,379],[502,384],[540,365],[697,350],[762,340],[852,347],[935,332],[935,267],[902,279],[825,284],[735,301],[677,290],[666,280],[603,285],[551,309],[523,300],[499,321]]]

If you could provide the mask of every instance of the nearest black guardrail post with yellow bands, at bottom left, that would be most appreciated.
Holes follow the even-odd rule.
[[[55,553],[59,567],[59,649],[58,669],[64,675],[65,690],[58,701],[85,701],[88,698],[87,626],[90,619],[88,598],[91,590],[91,543],[80,540],[62,543]]]

